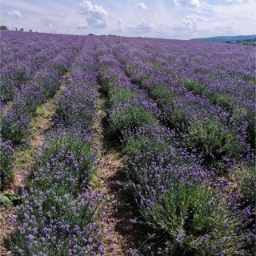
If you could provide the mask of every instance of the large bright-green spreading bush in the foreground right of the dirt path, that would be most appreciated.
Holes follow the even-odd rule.
[[[216,255],[214,250],[235,254],[238,218],[230,218],[225,198],[209,187],[172,183],[172,190],[158,197],[147,218],[169,241],[170,253]],[[164,213],[164,214],[163,214]],[[215,249],[214,249],[215,248]]]

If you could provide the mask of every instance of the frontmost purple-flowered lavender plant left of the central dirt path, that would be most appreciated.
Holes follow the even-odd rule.
[[[30,191],[32,194],[32,191]],[[44,212],[47,198],[54,197],[54,206]],[[98,243],[94,217],[98,199],[85,191],[74,201],[70,194],[65,198],[54,195],[54,188],[47,191],[33,191],[25,198],[20,216],[23,222],[18,226],[12,243],[14,255],[102,255]],[[80,222],[79,222],[80,221]]]

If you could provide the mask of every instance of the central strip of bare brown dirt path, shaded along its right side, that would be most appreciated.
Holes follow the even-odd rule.
[[[109,138],[104,103],[104,99],[98,100],[98,117],[94,126],[95,145],[98,147],[94,190],[105,194],[106,198],[98,225],[104,230],[106,256],[127,256],[130,248],[138,248],[144,235],[141,226],[131,221],[138,217],[138,211],[135,210],[133,196],[127,190],[120,145],[114,138]]]

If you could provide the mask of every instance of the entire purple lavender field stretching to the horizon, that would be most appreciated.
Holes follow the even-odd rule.
[[[254,255],[255,57],[239,44],[1,31],[0,214],[12,232],[0,250]],[[103,143],[122,155],[117,184],[141,230],[119,251],[99,221],[112,196],[95,182]]]

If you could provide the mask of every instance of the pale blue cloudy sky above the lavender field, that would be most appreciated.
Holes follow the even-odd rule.
[[[0,5],[0,24],[9,30],[177,39],[256,34],[256,0],[1,0]]]

